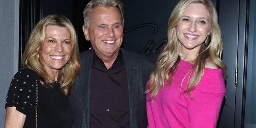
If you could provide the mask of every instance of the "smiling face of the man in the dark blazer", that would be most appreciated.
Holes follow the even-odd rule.
[[[116,7],[96,6],[91,12],[88,30],[83,26],[86,40],[99,58],[113,58],[123,42],[120,10]]]

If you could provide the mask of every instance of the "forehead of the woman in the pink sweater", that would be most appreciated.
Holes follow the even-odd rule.
[[[206,8],[204,4],[201,3],[191,3],[189,4],[183,12],[185,16],[192,17],[202,17],[202,18],[210,18],[209,10]]]

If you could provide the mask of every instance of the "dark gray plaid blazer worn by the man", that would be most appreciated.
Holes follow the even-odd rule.
[[[121,49],[128,82],[130,128],[146,128],[146,82],[153,68],[146,58],[140,54]],[[93,50],[80,53],[81,71],[72,86],[70,102],[74,110],[75,120],[72,128],[90,128],[90,77]]]

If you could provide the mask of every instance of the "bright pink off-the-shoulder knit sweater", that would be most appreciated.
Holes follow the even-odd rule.
[[[216,128],[225,94],[222,70],[204,68],[204,75],[191,91],[193,99],[190,99],[183,93],[188,77],[181,90],[180,85],[191,67],[192,64],[180,60],[171,86],[162,87],[153,102],[147,94],[148,128]]]

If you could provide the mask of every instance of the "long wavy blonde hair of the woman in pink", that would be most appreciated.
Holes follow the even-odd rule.
[[[198,56],[194,60],[194,64],[188,74],[184,76],[183,80],[186,77],[189,77],[186,93],[190,98],[193,98],[190,95],[190,92],[194,90],[198,83],[200,82],[203,74],[206,60],[212,60],[219,68],[223,70],[223,77],[226,78],[226,66],[221,60],[222,56],[222,40],[220,27],[218,25],[218,16],[212,2],[210,0],[180,0],[176,7],[174,8],[168,22],[168,43],[166,50],[164,50],[157,60],[157,65],[154,67],[154,70],[148,81],[146,93],[151,93],[149,99],[154,99],[162,86],[164,86],[164,80],[168,81],[168,84],[165,86],[167,88],[170,86],[172,80],[170,80],[169,75],[173,75],[176,67],[180,62],[180,49],[179,49],[179,40],[176,33],[176,26],[181,20],[182,14],[186,7],[191,3],[204,4],[208,9],[210,14],[210,24],[211,24],[211,40],[210,45],[205,46],[202,44],[200,50],[198,51]],[[208,42],[209,38],[206,38]],[[192,73],[194,71],[194,74]],[[190,75],[192,77],[190,78]],[[183,82],[183,81],[182,81]],[[182,85],[181,85],[182,86]]]

